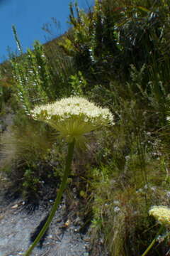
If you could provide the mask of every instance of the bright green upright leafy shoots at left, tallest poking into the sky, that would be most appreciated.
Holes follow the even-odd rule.
[[[21,44],[13,27],[13,34],[16,38],[18,50],[22,54]],[[21,107],[29,114],[31,107],[40,102],[50,100],[50,73],[45,58],[43,47],[35,41],[34,50],[28,49],[22,58],[13,57],[11,59],[13,90]]]

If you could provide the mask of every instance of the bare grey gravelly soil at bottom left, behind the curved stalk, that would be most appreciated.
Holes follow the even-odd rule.
[[[47,213],[47,209],[39,206],[33,213],[28,214],[21,199],[9,203],[8,206],[4,203],[0,207],[0,256],[23,255],[30,245],[30,233]],[[75,225],[77,220],[72,219],[72,213],[67,214],[67,220],[63,216],[65,216],[64,203],[60,205],[52,220],[42,248],[35,247],[33,256],[89,255],[88,235],[78,232],[79,225]]]

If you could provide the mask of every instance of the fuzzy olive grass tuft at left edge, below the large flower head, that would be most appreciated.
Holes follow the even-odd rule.
[[[16,124],[2,134],[2,154],[4,158],[21,162],[43,159],[52,146],[52,134],[43,124],[31,119],[18,117]],[[54,139],[53,139],[54,142]],[[8,162],[8,161],[6,161]]]

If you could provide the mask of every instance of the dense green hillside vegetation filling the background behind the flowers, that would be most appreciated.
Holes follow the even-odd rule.
[[[159,229],[149,208],[170,203],[170,2],[96,0],[87,14],[75,4],[70,23],[25,54],[13,28],[20,54],[0,70],[1,117],[13,114],[1,135],[1,171],[25,198],[41,198],[62,176],[65,145],[30,110],[70,95],[108,107],[115,125],[77,152],[69,196],[76,187],[93,245],[103,238],[111,256],[142,255]],[[166,255],[167,242],[149,255]]]

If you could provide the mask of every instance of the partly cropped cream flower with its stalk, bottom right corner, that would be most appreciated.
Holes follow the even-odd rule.
[[[149,250],[154,246],[155,242],[157,242],[159,238],[159,235],[162,233],[162,230],[164,230],[164,228],[170,228],[170,208],[166,206],[153,206],[149,210],[149,215],[152,215],[158,221],[161,227],[159,228],[156,237],[154,240],[152,240],[151,244],[149,247],[147,247],[147,250],[145,250],[142,256],[147,255],[147,252],[149,252]],[[169,233],[166,234],[166,236],[168,235]]]

